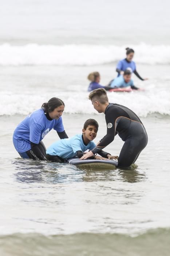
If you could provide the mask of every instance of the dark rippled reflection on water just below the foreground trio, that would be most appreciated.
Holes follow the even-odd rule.
[[[129,169],[110,167],[74,166],[68,163],[33,161],[17,159],[12,162],[17,172],[13,174],[19,182],[45,182],[48,184],[68,182],[115,181],[140,182],[146,174],[138,170],[137,165]]]

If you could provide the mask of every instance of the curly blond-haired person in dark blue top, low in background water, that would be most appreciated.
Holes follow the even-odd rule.
[[[91,83],[88,86],[88,91],[93,91],[95,89],[104,88],[106,91],[110,90],[110,87],[103,86],[99,84],[100,82],[100,74],[99,72],[92,72],[87,76],[87,79],[91,81]]]

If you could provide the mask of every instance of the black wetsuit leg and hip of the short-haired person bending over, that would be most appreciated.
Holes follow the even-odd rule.
[[[129,131],[130,135],[120,151],[118,167],[125,168],[131,166],[147,145],[147,133],[142,124],[131,122]]]

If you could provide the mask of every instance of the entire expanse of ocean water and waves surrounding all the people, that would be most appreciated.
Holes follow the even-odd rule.
[[[169,256],[169,1],[7,0],[0,10],[0,255]],[[68,136],[104,114],[88,100],[87,75],[116,76],[125,48],[145,91],[108,93],[131,108],[149,142],[127,170],[21,159],[16,125],[51,97],[61,98]],[[58,140],[51,131],[44,144]],[[106,151],[119,155],[118,136]]]

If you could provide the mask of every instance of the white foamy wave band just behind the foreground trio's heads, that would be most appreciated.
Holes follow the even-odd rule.
[[[1,92],[0,116],[3,115],[27,115],[36,109],[41,108],[43,102],[54,97],[54,94],[38,92],[32,95],[28,93]],[[91,102],[88,100],[88,93],[82,91],[60,91],[57,97],[65,103],[64,113],[68,114],[96,114]],[[110,102],[118,103],[132,109],[140,117],[146,117],[152,113],[155,116],[170,116],[170,93],[166,90],[153,92],[132,93],[108,93]]]

